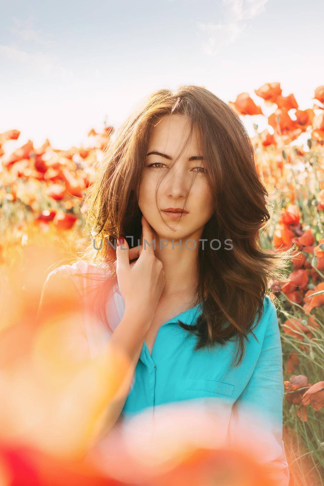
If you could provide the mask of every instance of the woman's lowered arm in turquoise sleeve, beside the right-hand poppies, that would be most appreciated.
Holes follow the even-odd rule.
[[[242,440],[251,444],[254,437],[254,452],[269,466],[276,484],[286,486],[289,472],[282,441],[282,350],[276,309],[270,299],[267,314],[259,359],[233,407],[230,435],[235,436],[235,443]]]

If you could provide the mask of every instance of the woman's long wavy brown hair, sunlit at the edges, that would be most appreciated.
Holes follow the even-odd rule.
[[[251,140],[240,117],[231,107],[204,87],[189,85],[160,89],[147,97],[119,127],[100,162],[97,179],[89,193],[86,226],[93,242],[83,259],[108,264],[109,278],[116,282],[113,261],[115,240],[127,238],[136,246],[141,236],[139,188],[152,126],[163,115],[188,117],[190,136],[198,129],[214,198],[214,213],[205,225],[202,239],[232,241],[231,251],[218,251],[205,244],[198,249],[198,285],[195,302],[202,312],[194,326],[179,325],[197,336],[195,350],[237,341],[235,363],[243,358],[245,340],[263,313],[263,298],[271,282],[288,281],[284,269],[293,249],[266,250],[260,244],[260,229],[270,219],[268,192],[256,168]],[[107,243],[108,242],[108,243]],[[96,248],[95,248],[96,247]],[[101,249],[97,249],[100,248]],[[108,328],[104,304],[112,285],[104,285],[101,315]]]

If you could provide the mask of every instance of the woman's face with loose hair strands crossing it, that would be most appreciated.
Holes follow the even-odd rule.
[[[184,152],[171,167],[173,158],[189,135],[190,124],[187,117],[180,115],[167,115],[160,120],[152,128],[147,154],[156,152],[165,156],[146,156],[138,204],[160,239],[199,239],[213,214],[211,189],[207,182],[204,160],[199,160],[199,157],[204,156],[200,137],[197,132],[193,133]],[[164,178],[159,186],[156,202],[156,188],[162,175]],[[163,211],[168,208],[184,208],[188,213],[182,214],[180,218]],[[166,226],[163,220],[175,231]]]

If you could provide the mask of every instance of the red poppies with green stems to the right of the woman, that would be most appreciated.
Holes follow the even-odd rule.
[[[293,484],[323,484],[324,473],[324,86],[300,110],[279,83],[255,90],[274,106],[267,129],[256,134],[259,174],[273,208],[262,244],[295,248],[289,283],[274,281],[284,359],[284,441]],[[248,93],[230,103],[243,116],[262,114]],[[298,143],[302,134],[306,143]],[[297,141],[296,141],[297,140]],[[306,146],[305,146],[306,145]]]

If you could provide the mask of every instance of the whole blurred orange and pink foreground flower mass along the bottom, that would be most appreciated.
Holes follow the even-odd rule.
[[[20,281],[18,265],[14,275],[7,270],[0,297],[3,308],[19,303],[16,322],[0,331],[1,486],[280,484],[281,443],[271,442],[267,424],[255,415],[234,420],[228,435],[231,411],[219,400],[160,406],[154,417],[146,411],[121,416],[107,430],[108,406],[125,392],[130,361],[110,340],[88,357],[86,340],[75,332],[83,310],[63,280],[52,287],[52,306],[60,312],[53,314],[47,301],[35,325],[28,309],[39,297],[39,252],[30,249],[24,262],[27,295],[10,287]]]

